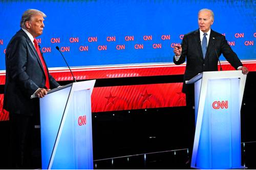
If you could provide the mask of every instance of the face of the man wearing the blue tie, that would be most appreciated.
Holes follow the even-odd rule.
[[[213,25],[213,18],[210,11],[201,11],[198,14],[199,29],[204,33],[208,32]]]

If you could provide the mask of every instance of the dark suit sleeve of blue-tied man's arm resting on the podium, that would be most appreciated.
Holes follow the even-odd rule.
[[[221,53],[236,70],[238,67],[243,66],[236,53],[231,49],[230,45],[228,45],[225,36],[221,38]]]

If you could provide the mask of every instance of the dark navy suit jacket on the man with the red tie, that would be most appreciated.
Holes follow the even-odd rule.
[[[39,113],[39,99],[30,97],[38,88],[45,88],[46,76],[35,47],[23,30],[9,42],[5,64],[4,109],[17,114]],[[48,75],[50,88],[59,87],[59,83]]]

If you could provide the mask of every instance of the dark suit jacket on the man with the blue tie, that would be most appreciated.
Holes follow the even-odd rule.
[[[223,56],[228,60],[228,62],[237,69],[240,66],[243,66],[236,53],[231,49],[230,45],[222,34],[219,34],[211,30],[209,37],[208,48],[206,51],[205,59],[203,57],[200,41],[200,31],[199,29],[193,31],[189,34],[186,34],[183,37],[182,43],[182,53],[178,61],[173,57],[173,62],[177,65],[183,64],[187,59],[186,70],[183,81],[182,91],[186,92],[185,81],[192,79],[198,73],[209,72],[209,71],[218,71],[218,57],[223,54]],[[217,54],[215,52],[217,51]],[[218,57],[217,57],[218,55]]]

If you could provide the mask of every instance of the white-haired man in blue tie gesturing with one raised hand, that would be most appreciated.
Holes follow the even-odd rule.
[[[225,36],[211,29],[213,22],[213,11],[201,9],[198,12],[199,29],[186,34],[181,45],[173,49],[175,53],[173,62],[175,64],[183,64],[187,60],[182,91],[186,94],[187,112],[190,121],[187,134],[189,136],[190,159],[195,134],[195,111],[193,110],[195,100],[194,86],[185,84],[185,81],[192,79],[201,72],[218,71],[218,59],[221,54],[235,69],[242,70],[244,74],[248,74],[248,69],[243,66],[236,53],[228,45]]]

